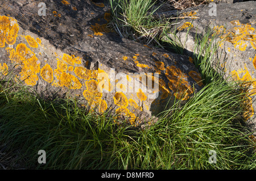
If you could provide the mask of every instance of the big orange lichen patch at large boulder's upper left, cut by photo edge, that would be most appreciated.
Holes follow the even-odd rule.
[[[18,31],[19,26],[14,18],[0,16],[0,47],[5,47],[5,43],[13,45]]]

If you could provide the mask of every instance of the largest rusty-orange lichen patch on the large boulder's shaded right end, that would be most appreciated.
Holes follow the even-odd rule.
[[[177,69],[175,66],[168,66],[166,68],[166,77],[170,82],[168,82],[169,88],[174,91],[174,95],[177,99],[187,100],[188,95],[193,93],[189,83],[185,81],[188,78],[188,75],[184,74],[180,69]],[[188,89],[188,91],[184,92]]]

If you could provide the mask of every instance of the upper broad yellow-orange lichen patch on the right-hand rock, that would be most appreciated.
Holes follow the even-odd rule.
[[[251,46],[256,49],[256,35],[254,28],[251,27],[250,24],[241,24],[239,20],[230,23],[233,24],[234,27],[229,30],[226,30],[223,26],[214,27],[216,33],[222,35],[221,39],[229,41],[234,45],[234,48],[242,51],[249,45],[248,42],[250,42]]]

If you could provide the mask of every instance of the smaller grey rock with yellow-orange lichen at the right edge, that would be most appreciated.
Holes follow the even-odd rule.
[[[216,16],[209,5],[185,10],[182,13],[191,18],[178,20],[177,39],[185,48],[185,54],[192,56],[195,37],[201,38],[208,28],[221,40],[217,56],[225,71],[225,77],[243,81],[256,81],[256,2],[239,2],[234,4],[216,4]],[[188,31],[188,28],[191,29]],[[175,39],[173,35],[169,35]],[[256,82],[251,84],[251,96],[248,118],[254,120],[256,109]]]

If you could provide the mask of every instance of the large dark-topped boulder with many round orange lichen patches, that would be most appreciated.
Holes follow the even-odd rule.
[[[40,7],[40,1],[1,3],[2,79],[13,73],[43,98],[76,98],[81,105],[117,113],[133,125],[156,116],[175,99],[185,102],[204,86],[188,56],[112,32],[106,26],[106,4],[44,2]]]

